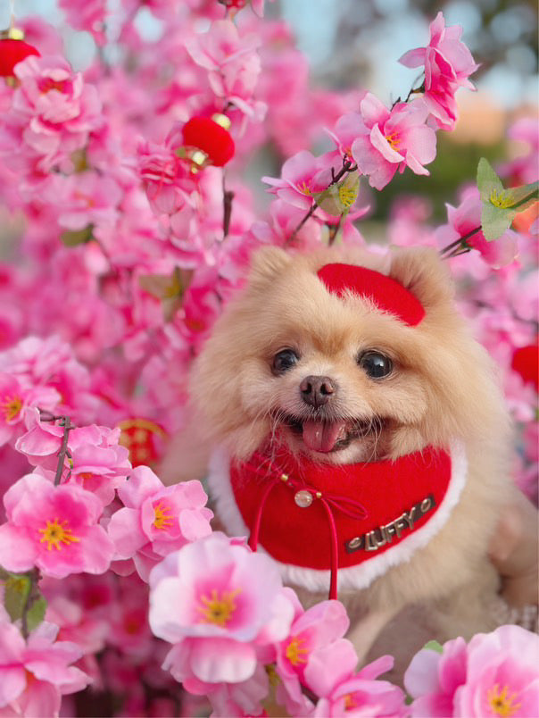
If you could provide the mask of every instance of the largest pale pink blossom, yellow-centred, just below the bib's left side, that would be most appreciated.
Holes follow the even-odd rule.
[[[293,618],[275,565],[220,533],[165,562],[169,575],[150,575],[150,626],[175,644],[166,667],[186,686],[249,680],[256,647],[284,639]]]

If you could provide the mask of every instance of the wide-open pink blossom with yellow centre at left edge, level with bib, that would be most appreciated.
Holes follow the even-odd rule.
[[[33,566],[54,578],[105,572],[114,546],[97,523],[103,506],[89,491],[54,487],[27,474],[4,494],[7,522],[0,526],[0,565],[24,572]]]

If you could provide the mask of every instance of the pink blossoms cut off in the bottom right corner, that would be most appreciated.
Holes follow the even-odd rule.
[[[413,716],[525,716],[539,705],[539,637],[520,626],[453,639],[438,653],[424,648],[404,683]]]

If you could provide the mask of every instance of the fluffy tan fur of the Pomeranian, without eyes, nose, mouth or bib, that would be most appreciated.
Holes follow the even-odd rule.
[[[358,296],[329,295],[316,276],[329,262],[389,274],[419,298],[425,318],[409,327]],[[296,348],[301,362],[276,377],[271,361],[283,347]],[[382,381],[370,380],[356,361],[372,347],[394,362],[394,372]],[[339,412],[382,416],[385,428],[339,451],[313,455],[318,453],[278,422],[296,411],[297,386],[308,374],[336,377]],[[195,362],[190,396],[189,427],[162,466],[167,482],[201,478],[211,447],[224,445],[232,457],[245,459],[272,433],[284,436],[295,452],[335,463],[463,442],[468,479],[442,530],[408,563],[339,598],[355,623],[350,637],[360,655],[407,605],[436,607],[427,633],[435,631],[439,639],[494,627],[498,577],[487,551],[510,497],[510,422],[493,363],[455,310],[452,282],[433,250],[394,250],[389,257],[359,250],[294,256],[262,250],[245,290],[228,304]],[[300,594],[305,603],[323,598]]]

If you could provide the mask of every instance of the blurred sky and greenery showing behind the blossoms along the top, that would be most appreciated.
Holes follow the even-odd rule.
[[[184,2],[185,0],[178,0]],[[121,0],[112,0],[114,8]],[[74,33],[54,0],[0,0],[0,29],[15,16],[37,13],[62,29],[66,54],[76,69],[84,69],[95,54],[91,36]],[[405,97],[417,71],[398,59],[407,50],[425,46],[428,25],[443,11],[447,25],[460,24],[462,39],[480,68],[472,79],[477,92],[460,90],[460,121],[453,132],[438,133],[438,154],[429,166],[429,178],[405,172],[376,193],[371,221],[384,221],[395,196],[419,194],[429,200],[432,221],[444,221],[445,202],[456,202],[458,188],[473,180],[477,162],[487,157],[494,165],[522,152],[518,143],[507,146],[505,130],[521,115],[537,115],[537,3],[535,0],[266,0],[269,18],[284,17],[293,28],[298,46],[309,58],[311,81],[321,88],[369,89],[387,106]],[[137,13],[137,27],[149,39],[162,32],[149,10]],[[539,132],[539,126],[538,126]],[[321,152],[328,146],[314,146]],[[279,174],[285,159],[272,154],[255,159],[249,175]],[[255,183],[256,184],[256,183]],[[257,191],[257,189],[255,189]],[[257,192],[263,201],[263,188]],[[369,189],[366,189],[369,195]],[[372,197],[370,199],[373,199]]]

